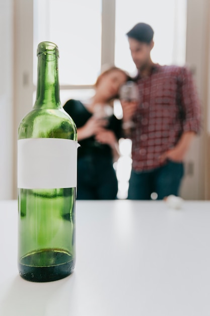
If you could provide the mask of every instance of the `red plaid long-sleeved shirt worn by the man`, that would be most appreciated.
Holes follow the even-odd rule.
[[[154,65],[149,77],[136,79],[139,104],[131,132],[132,168],[160,167],[159,156],[173,148],[183,132],[200,128],[200,103],[192,74],[185,67]]]

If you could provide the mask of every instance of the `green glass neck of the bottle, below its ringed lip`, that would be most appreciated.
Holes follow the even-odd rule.
[[[52,52],[38,55],[37,91],[34,109],[60,109],[58,56]]]

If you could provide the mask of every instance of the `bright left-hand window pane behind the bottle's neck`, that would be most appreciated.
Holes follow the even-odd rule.
[[[60,52],[61,102],[69,95],[78,98],[91,95],[92,90],[87,90],[87,86],[95,83],[101,68],[101,2],[34,1],[34,84],[36,48],[39,42],[46,40],[56,43]],[[71,90],[81,86],[85,91]]]

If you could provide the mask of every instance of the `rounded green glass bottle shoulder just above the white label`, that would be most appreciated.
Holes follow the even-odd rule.
[[[77,140],[77,129],[73,119],[63,109],[35,109],[21,121],[18,139],[65,138]]]

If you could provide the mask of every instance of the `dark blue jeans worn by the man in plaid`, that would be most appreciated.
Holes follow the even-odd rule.
[[[183,175],[183,164],[172,161],[150,171],[135,172],[132,170],[128,199],[150,200],[153,192],[158,194],[157,199],[159,200],[170,194],[178,196]]]

